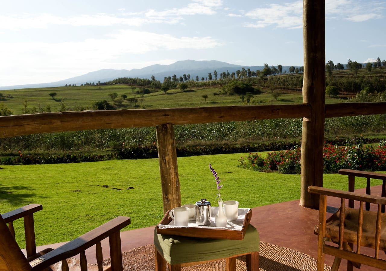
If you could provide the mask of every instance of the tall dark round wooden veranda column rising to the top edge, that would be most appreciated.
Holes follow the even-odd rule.
[[[300,205],[318,209],[319,197],[307,187],[323,186],[325,0],[303,0],[303,42],[303,103],[310,104],[311,117],[303,118]]]

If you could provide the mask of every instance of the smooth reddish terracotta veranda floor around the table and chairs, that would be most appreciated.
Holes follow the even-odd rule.
[[[365,189],[356,192],[365,194]],[[371,188],[372,195],[381,195],[381,186]],[[266,205],[252,209],[251,224],[260,233],[260,240],[278,246],[289,247],[317,258],[317,236],[313,234],[314,226],[318,224],[318,211],[299,206],[299,200]],[[328,206],[339,207],[340,199],[328,198]],[[153,242],[154,226],[121,232],[122,252],[135,247],[145,246]],[[56,248],[64,243],[40,246],[37,251],[46,247]],[[103,258],[110,257],[108,239],[102,241]],[[371,250],[370,250],[371,251]],[[362,251],[366,253],[365,251]],[[380,253],[381,258],[385,258]],[[95,247],[86,251],[87,261],[96,263]],[[325,264],[332,265],[334,258],[326,255]],[[347,261],[342,260],[339,270],[346,270]],[[354,270],[381,270],[362,265],[361,269]]]

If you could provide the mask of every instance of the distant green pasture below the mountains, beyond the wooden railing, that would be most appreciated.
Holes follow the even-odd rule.
[[[136,87],[134,91],[138,91]],[[124,101],[122,106],[116,109],[140,109],[143,105],[146,109],[154,108],[176,108],[176,107],[197,107],[197,106],[229,106],[245,105],[239,95],[214,95],[220,93],[221,87],[213,88],[190,88],[186,92],[179,89],[171,89],[166,94],[162,91],[145,94],[143,97],[133,93],[131,86],[127,85],[110,85],[110,86],[71,86],[56,88],[35,88],[35,89],[15,89],[4,90],[1,93],[6,98],[4,103],[14,114],[22,114],[22,108],[27,100],[27,109],[38,108],[39,104],[44,109],[47,105],[51,107],[52,112],[61,111],[61,101],[68,109],[93,109],[92,104],[95,101],[107,100],[112,101],[108,96],[109,93],[116,92],[118,97],[126,94],[128,98],[135,97],[138,99],[137,106],[131,105],[129,101]],[[255,94],[250,104],[300,104],[302,103],[301,91],[281,91],[282,93],[277,101],[268,90],[262,89],[261,94]],[[49,93],[55,92],[57,95],[52,99]],[[203,95],[208,95],[205,99]],[[12,96],[13,98],[9,98]],[[141,99],[143,99],[141,101]],[[326,103],[337,103],[339,99],[326,98]]]

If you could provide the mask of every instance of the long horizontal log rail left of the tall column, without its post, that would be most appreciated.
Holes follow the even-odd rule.
[[[38,113],[0,117],[0,138],[109,128],[310,117],[308,104]]]

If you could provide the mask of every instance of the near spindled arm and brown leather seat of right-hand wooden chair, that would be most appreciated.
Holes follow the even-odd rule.
[[[386,251],[386,214],[381,212],[386,199],[316,186],[308,187],[308,192],[320,195],[319,224],[315,228],[318,234],[317,270],[324,269],[324,254],[335,256],[331,270],[338,270],[342,258],[358,263],[358,268],[362,263],[386,270],[386,261],[379,258],[379,251]],[[340,198],[341,204],[340,209],[326,221],[327,196]],[[359,209],[354,209],[354,205],[346,208],[345,199],[359,201]],[[363,210],[364,202],[377,204],[377,212]],[[335,242],[339,247],[327,245],[325,241]],[[356,251],[349,244],[356,244]],[[361,254],[361,246],[374,249],[374,257]]]

